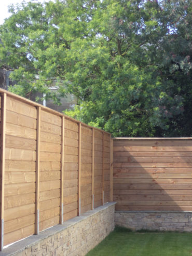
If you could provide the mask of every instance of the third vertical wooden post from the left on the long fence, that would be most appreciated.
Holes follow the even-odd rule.
[[[61,177],[60,177],[60,224],[63,224],[63,176],[64,176],[64,137],[65,137],[65,117],[61,117]]]

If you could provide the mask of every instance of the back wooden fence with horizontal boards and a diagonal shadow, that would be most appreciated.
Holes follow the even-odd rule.
[[[192,138],[114,139],[116,210],[192,211]]]

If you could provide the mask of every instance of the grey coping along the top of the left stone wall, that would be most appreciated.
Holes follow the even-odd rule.
[[[87,218],[91,217],[92,215],[97,214],[98,212],[101,212],[108,207],[114,206],[115,204],[116,204],[116,202],[106,203],[103,206],[95,208],[94,210],[87,211],[87,212],[81,214],[80,216],[77,216],[71,220],[67,220],[62,225],[58,224],[56,226],[52,226],[52,227],[48,228],[47,230],[39,232],[38,235],[32,235],[32,236],[29,236],[25,239],[18,241],[18,242],[15,242],[14,244],[10,245],[9,247],[3,249],[3,251],[0,252],[0,256],[8,256],[8,255],[11,256],[11,255],[14,255],[15,253],[20,253],[20,252],[24,251],[25,249],[36,245],[38,242],[40,242],[54,234],[57,234],[57,233],[65,230],[66,228],[73,226],[83,220],[86,220]]]

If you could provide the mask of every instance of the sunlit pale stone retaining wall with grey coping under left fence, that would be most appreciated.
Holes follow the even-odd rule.
[[[107,203],[5,248],[1,256],[83,256],[115,227],[115,203]]]

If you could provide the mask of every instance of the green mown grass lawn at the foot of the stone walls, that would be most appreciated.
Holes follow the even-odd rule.
[[[192,256],[192,233],[131,232],[116,227],[86,256]]]

